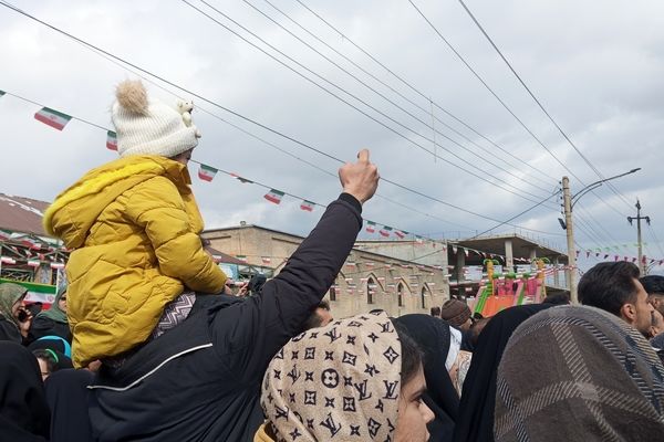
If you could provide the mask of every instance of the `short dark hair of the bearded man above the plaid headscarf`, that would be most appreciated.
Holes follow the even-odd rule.
[[[634,302],[639,267],[629,262],[599,263],[579,281],[579,302],[620,316],[625,303]]]

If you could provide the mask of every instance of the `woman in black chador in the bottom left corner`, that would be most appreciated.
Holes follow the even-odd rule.
[[[0,341],[0,439],[49,439],[51,415],[37,359],[15,343]]]

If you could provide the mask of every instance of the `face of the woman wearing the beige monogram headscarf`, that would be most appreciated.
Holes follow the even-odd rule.
[[[434,420],[433,411],[422,400],[426,391],[426,381],[422,366],[407,383],[398,397],[398,418],[396,421],[395,442],[426,442],[429,432],[426,424]]]

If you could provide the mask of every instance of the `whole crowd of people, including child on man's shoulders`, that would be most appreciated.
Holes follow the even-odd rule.
[[[325,293],[378,172],[342,193],[245,296],[199,239],[187,161],[200,133],[139,82],[113,105],[121,158],[44,217],[72,249],[44,312],[0,284],[2,441],[656,441],[664,438],[664,276],[601,263],[569,295],[492,317],[335,318]]]

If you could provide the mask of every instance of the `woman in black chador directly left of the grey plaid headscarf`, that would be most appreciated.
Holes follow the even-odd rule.
[[[519,305],[496,314],[486,325],[473,351],[473,361],[464,381],[455,442],[492,442],[496,376],[502,351],[515,329],[530,316],[551,304]]]

